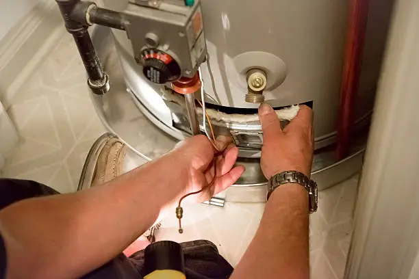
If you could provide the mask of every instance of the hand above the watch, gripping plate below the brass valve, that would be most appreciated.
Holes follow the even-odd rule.
[[[274,109],[268,104],[259,107],[264,133],[260,165],[266,178],[288,170],[310,177],[314,152],[313,111],[302,105],[297,116],[281,129]]]

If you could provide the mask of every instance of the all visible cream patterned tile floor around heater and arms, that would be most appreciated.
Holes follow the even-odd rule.
[[[75,191],[87,152],[105,129],[94,113],[84,68],[70,36],[63,32],[57,47],[18,94],[5,100],[5,107],[21,144],[3,176],[40,181],[63,193]],[[356,189],[354,176],[320,193],[319,211],[310,222],[312,278],[343,277]],[[255,235],[263,210],[264,204],[251,203],[227,202],[224,209],[187,205],[185,233],[177,233],[171,216],[164,220],[157,239],[210,239],[236,265]]]

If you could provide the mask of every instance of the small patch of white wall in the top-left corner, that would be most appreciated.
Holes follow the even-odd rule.
[[[42,0],[0,0],[0,40],[40,1]]]

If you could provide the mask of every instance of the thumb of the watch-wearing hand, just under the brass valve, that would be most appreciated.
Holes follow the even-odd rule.
[[[275,110],[268,104],[262,104],[259,107],[259,119],[264,133],[264,142],[273,140],[282,134],[281,122],[278,119]]]

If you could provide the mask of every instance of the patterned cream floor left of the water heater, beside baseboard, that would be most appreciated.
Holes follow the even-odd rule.
[[[88,150],[105,129],[90,101],[70,35],[63,34],[36,73],[5,103],[21,144],[3,176],[31,178],[64,193],[75,191]]]

